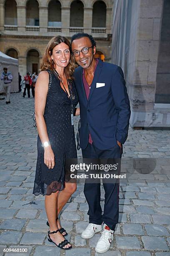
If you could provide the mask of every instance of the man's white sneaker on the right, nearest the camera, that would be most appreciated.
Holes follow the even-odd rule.
[[[98,253],[104,253],[109,248],[114,238],[114,230],[111,230],[106,224],[99,241],[96,244],[95,251]]]

